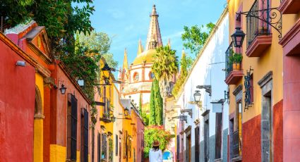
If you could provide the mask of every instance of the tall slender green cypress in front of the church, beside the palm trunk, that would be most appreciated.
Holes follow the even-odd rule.
[[[163,124],[163,101],[162,101],[162,96],[160,95],[160,85],[158,83],[158,80],[155,80],[155,121],[156,125],[162,125]]]

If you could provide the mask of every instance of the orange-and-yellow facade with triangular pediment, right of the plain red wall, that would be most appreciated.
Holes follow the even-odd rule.
[[[35,61],[32,161],[89,161],[91,102],[52,56],[45,27],[32,21],[5,34]]]

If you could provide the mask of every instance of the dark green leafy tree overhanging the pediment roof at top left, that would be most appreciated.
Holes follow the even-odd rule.
[[[80,3],[81,8],[76,6]],[[74,52],[76,31],[90,33],[90,15],[95,11],[92,0],[2,0],[0,13],[10,26],[32,18],[47,28],[47,35],[55,56]]]

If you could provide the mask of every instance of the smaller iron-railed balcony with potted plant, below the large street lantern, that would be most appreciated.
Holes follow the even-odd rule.
[[[226,64],[225,64],[225,82],[227,85],[235,85],[243,77],[243,71],[241,70],[241,63],[231,63],[229,58],[232,56],[233,43],[231,43],[225,52]]]

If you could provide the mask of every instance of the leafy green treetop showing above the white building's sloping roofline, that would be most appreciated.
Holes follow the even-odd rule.
[[[208,23],[205,27],[203,25],[193,25],[191,28],[184,26],[184,33],[181,35],[184,48],[190,49],[191,53],[195,54],[195,56],[197,56],[199,51],[203,48],[215,24]],[[205,30],[208,30],[208,32],[205,32]]]

